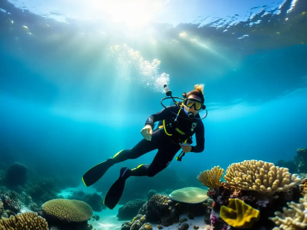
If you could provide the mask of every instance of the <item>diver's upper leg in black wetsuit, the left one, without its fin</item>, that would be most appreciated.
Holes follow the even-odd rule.
[[[163,135],[163,133],[160,130],[153,132],[150,141],[142,139],[133,148],[127,148],[119,151],[112,158],[109,159],[110,163],[116,164],[128,159],[137,159],[145,153],[159,148],[161,145],[161,135]]]

